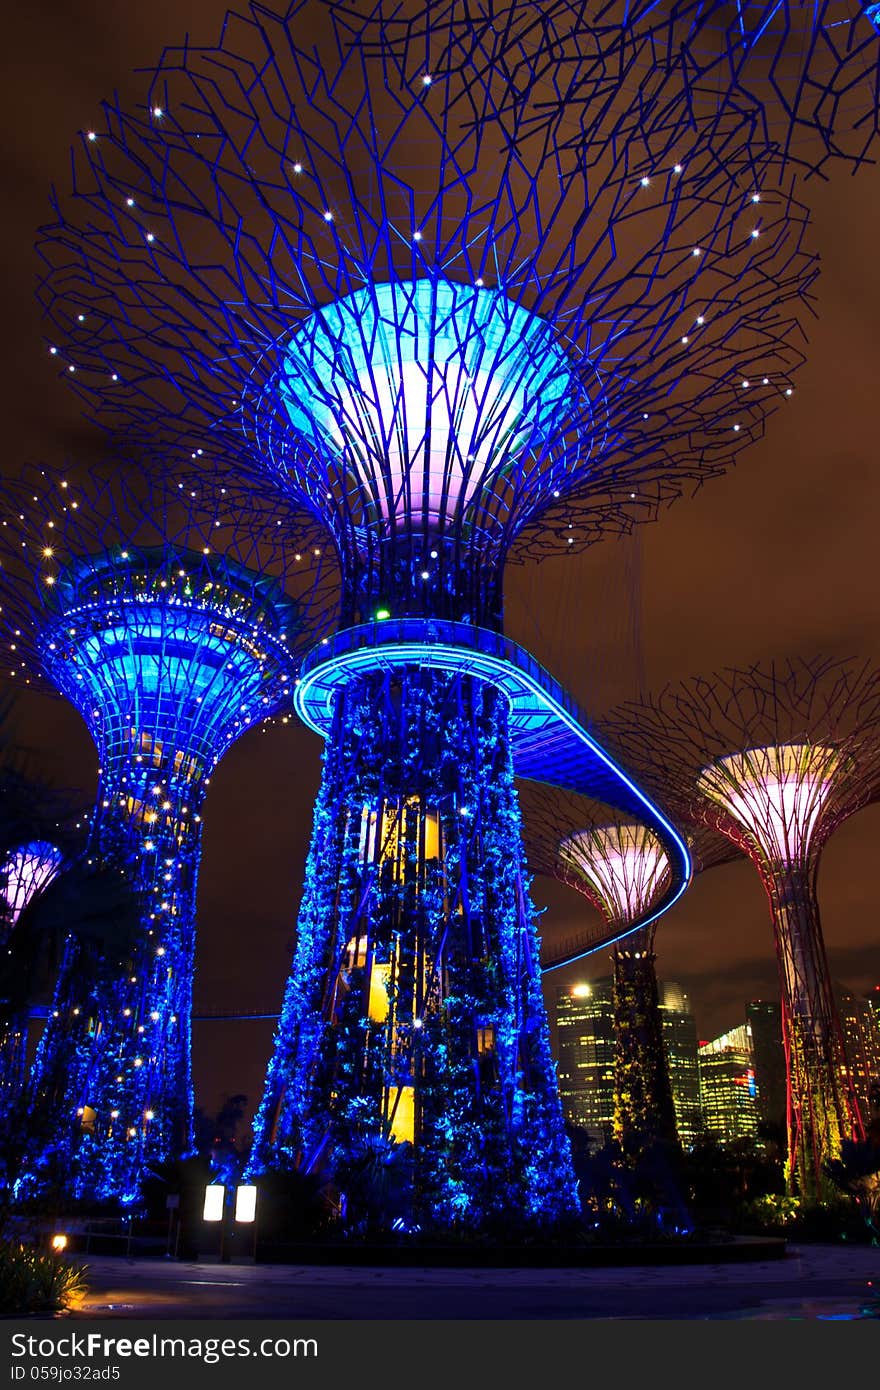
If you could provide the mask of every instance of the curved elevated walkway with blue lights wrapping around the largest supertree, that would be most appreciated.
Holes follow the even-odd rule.
[[[346,628],[306,657],[293,695],[296,713],[310,728],[327,737],[338,691],[356,676],[402,666],[475,676],[495,685],[510,705],[513,763],[519,777],[564,785],[627,815],[638,810],[670,853],[671,884],[649,916],[628,924],[626,931],[609,931],[584,951],[553,960],[546,970],[571,965],[623,941],[669,912],[694,873],[685,841],[662,810],[599,746],[585,728],[584,716],[552,676],[507,638],[464,623],[421,619]],[[539,733],[538,749],[534,748],[535,731]]]

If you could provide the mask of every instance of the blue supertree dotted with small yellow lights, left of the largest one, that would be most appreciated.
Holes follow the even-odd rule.
[[[4,674],[82,714],[100,763],[89,863],[131,890],[103,940],[67,938],[19,1195],[54,1180],[129,1201],[145,1163],[190,1147],[202,802],[227,748],[289,703],[320,592],[314,556],[295,570],[298,600],[261,573],[279,552],[256,513],[247,531],[178,498],[143,480],[83,493],[38,471],[0,493]]]

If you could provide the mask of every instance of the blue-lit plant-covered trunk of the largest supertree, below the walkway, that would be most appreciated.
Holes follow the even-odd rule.
[[[406,1144],[400,1219],[574,1213],[503,696],[403,669],[336,696],[254,1168]]]

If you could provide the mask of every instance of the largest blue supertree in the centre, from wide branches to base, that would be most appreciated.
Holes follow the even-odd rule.
[[[596,93],[614,71],[599,51]],[[268,480],[332,539],[348,627],[296,692],[327,748],[252,1166],[345,1190],[405,1141],[438,1226],[573,1207],[513,770],[658,834],[658,906],[688,876],[502,638],[505,562],[727,467],[791,393],[815,274],[792,199],[756,215],[748,129],[727,167],[705,133],[674,161],[687,93],[656,140],[602,125],[589,165],[530,120],[431,32],[413,68],[378,22],[253,6],[104,107],[40,243],[49,350],[106,425]]]

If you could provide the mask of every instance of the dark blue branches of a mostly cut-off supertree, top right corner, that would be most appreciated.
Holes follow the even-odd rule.
[[[475,14],[463,0],[412,10],[378,7],[409,71],[428,35],[443,33],[438,65],[467,53],[481,71],[528,89],[528,129],[585,158],[596,121],[621,140],[635,126],[655,139],[676,126],[687,89],[691,129],[712,131],[720,161],[727,135],[749,131],[781,174],[826,175],[836,161],[872,158],[880,110],[880,8],[858,0],[552,0],[499,3]],[[434,43],[435,51],[438,43]],[[560,56],[542,63],[542,53]],[[613,63],[612,60],[613,54]],[[623,100],[621,100],[623,97]],[[678,132],[681,133],[681,132]],[[678,150],[680,160],[685,149]]]

